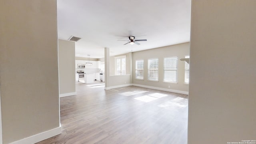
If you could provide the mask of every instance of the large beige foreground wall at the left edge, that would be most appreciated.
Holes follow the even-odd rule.
[[[1,0],[3,143],[59,127],[55,0]]]

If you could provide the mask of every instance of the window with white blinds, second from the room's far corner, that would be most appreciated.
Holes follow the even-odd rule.
[[[158,58],[148,59],[148,80],[158,81]]]

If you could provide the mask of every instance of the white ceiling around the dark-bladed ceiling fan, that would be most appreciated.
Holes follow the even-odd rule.
[[[58,37],[76,42],[76,56],[103,58],[190,41],[191,0],[57,0]],[[147,39],[125,44],[128,36]]]

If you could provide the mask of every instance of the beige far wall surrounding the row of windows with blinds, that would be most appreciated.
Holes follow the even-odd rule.
[[[158,88],[167,88],[172,90],[180,90],[188,92],[188,85],[184,84],[184,61],[180,61],[180,58],[185,58],[185,55],[189,55],[190,44],[176,44],[172,46],[165,46],[162,48],[154,48],[150,50],[144,50],[132,53],[132,83],[140,84],[144,86],[154,86]],[[166,83],[164,80],[164,57],[178,56],[178,83]],[[148,59],[158,58],[158,82],[148,81]],[[136,60],[144,60],[144,80],[135,79],[135,66]],[[170,86],[170,88],[168,88]]]

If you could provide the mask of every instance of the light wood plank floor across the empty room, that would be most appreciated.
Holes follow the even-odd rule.
[[[104,90],[86,85],[90,84],[79,82],[76,96],[60,98],[62,134],[37,144],[187,144],[187,95],[137,86]],[[153,93],[167,96],[151,102],[134,99]],[[163,107],[178,97],[181,106]]]

